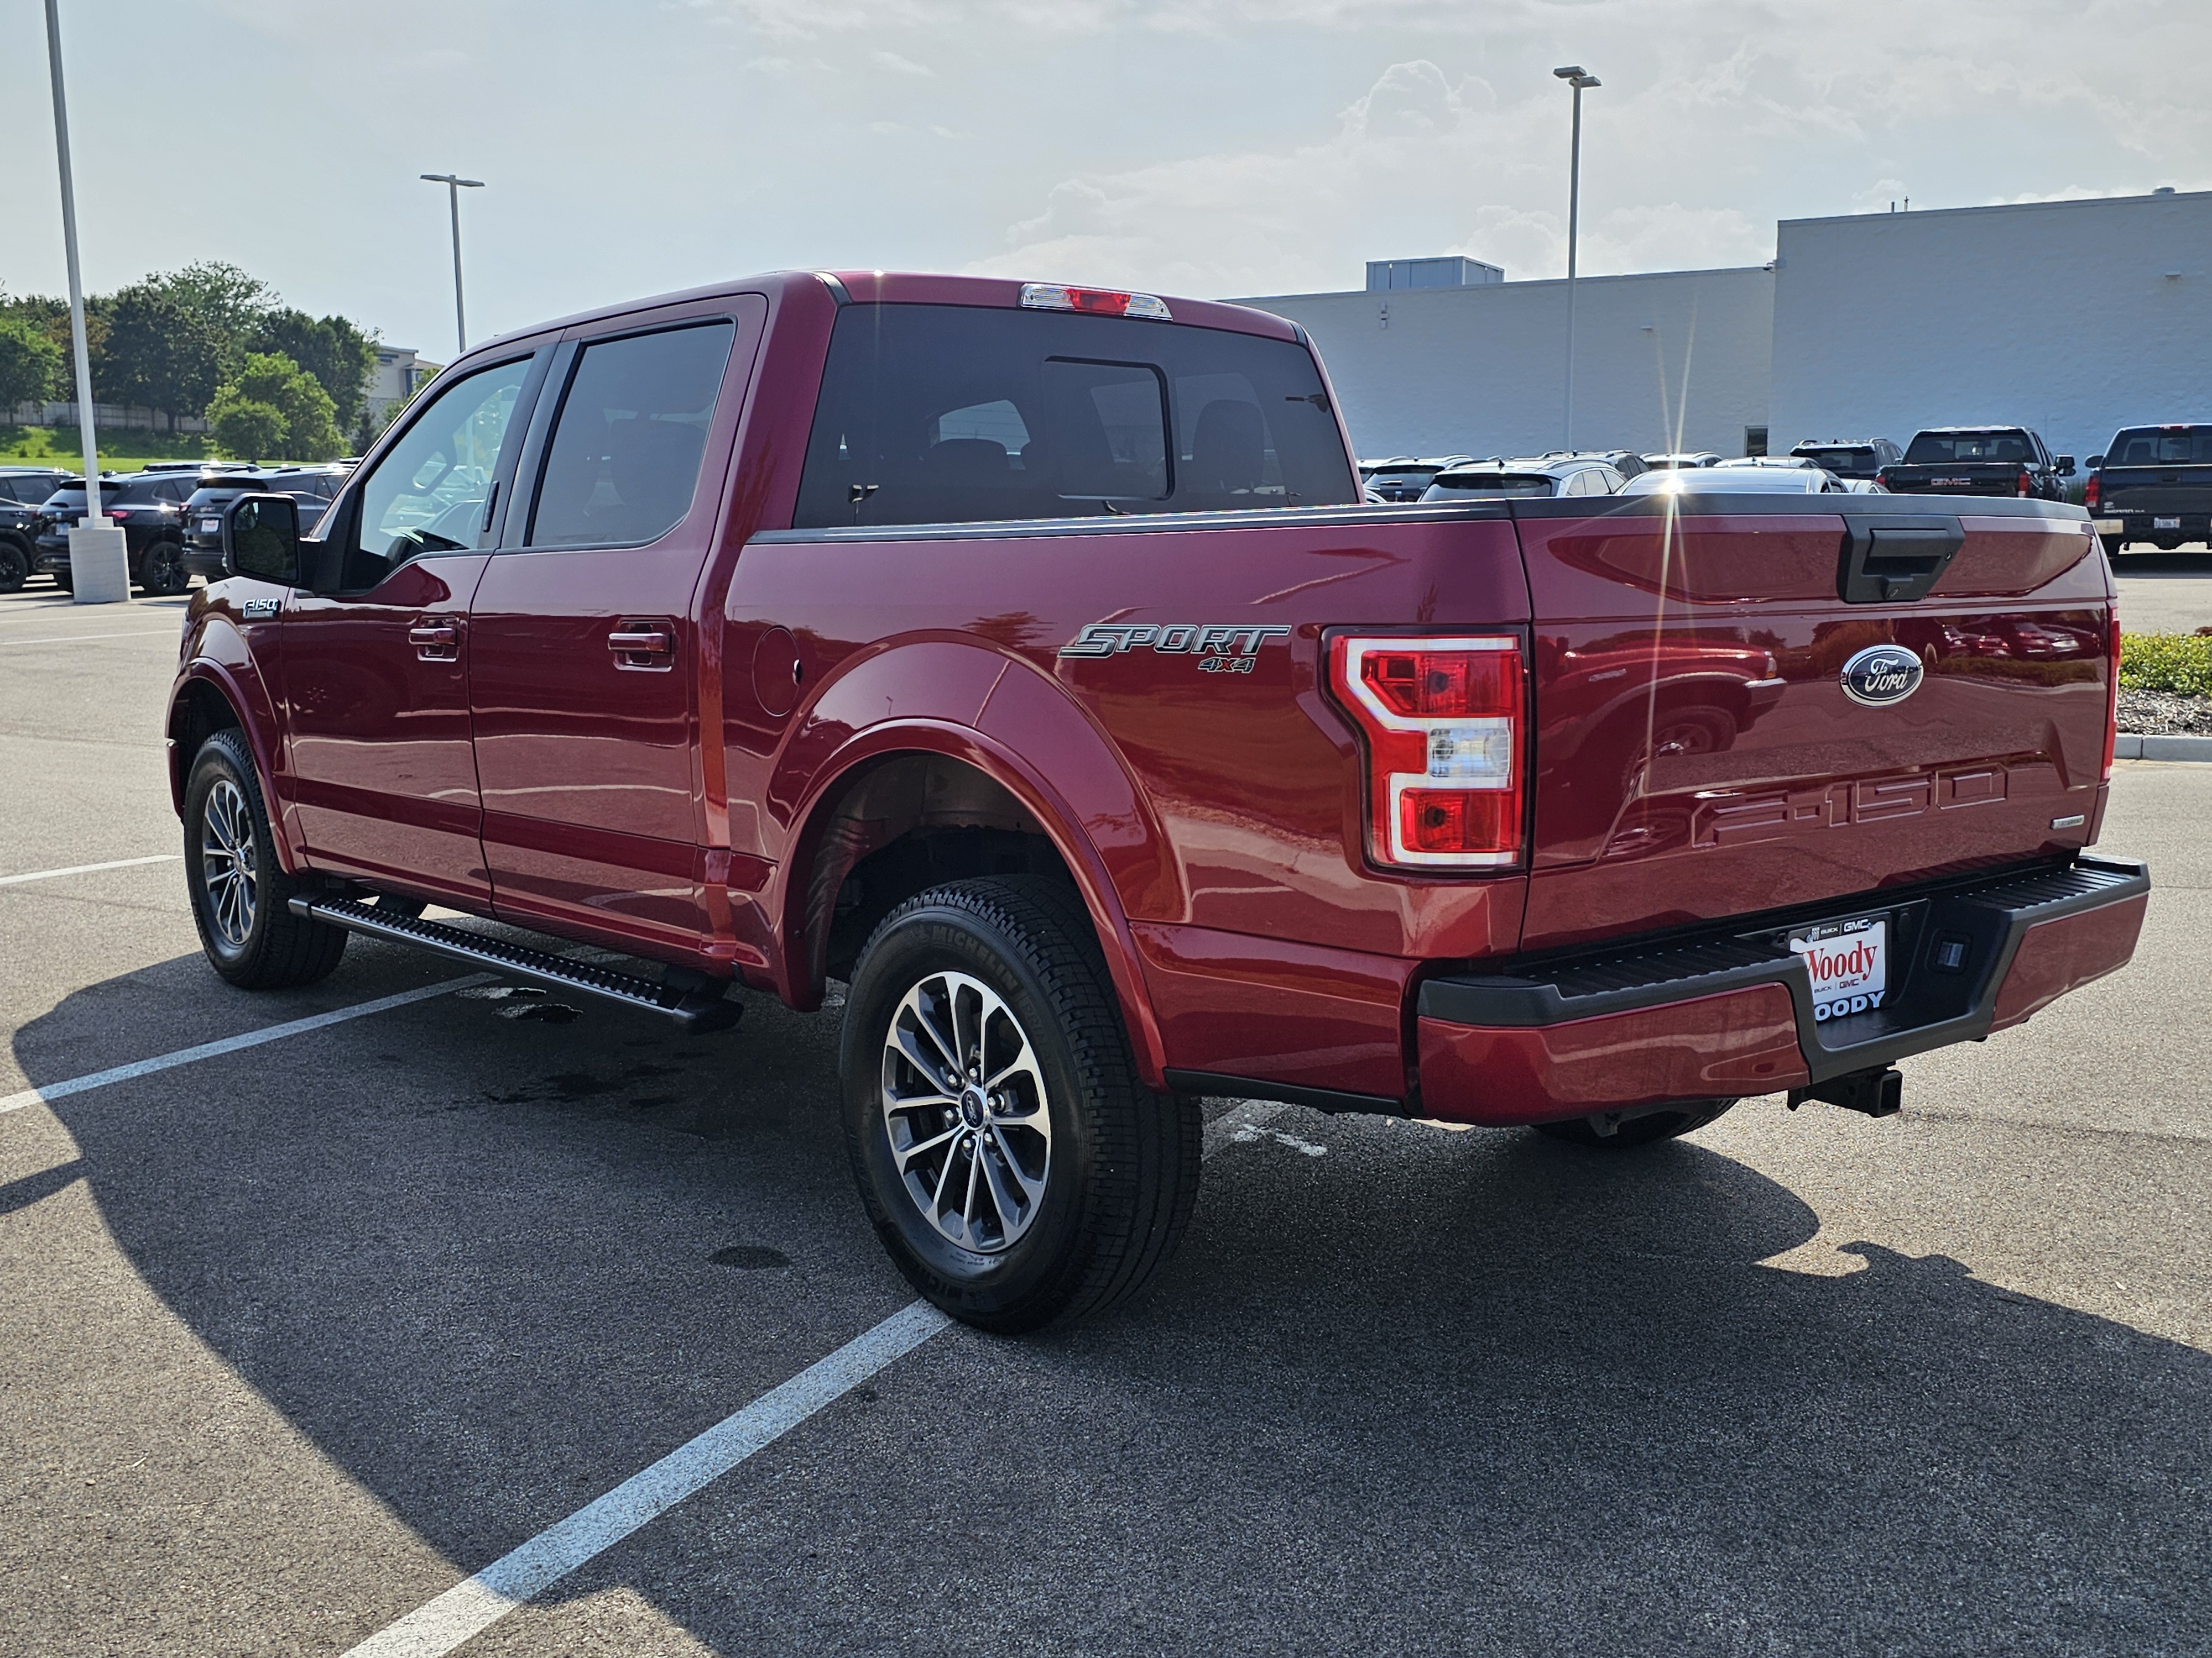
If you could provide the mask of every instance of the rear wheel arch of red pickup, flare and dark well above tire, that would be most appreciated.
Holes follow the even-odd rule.
[[[801,816],[781,898],[787,999],[816,1006],[825,975],[847,977],[876,924],[916,893],[973,875],[1042,875],[1091,915],[1139,1072],[1164,1085],[1135,944],[1097,851],[1040,780],[978,734],[905,741],[911,747],[836,769]]]

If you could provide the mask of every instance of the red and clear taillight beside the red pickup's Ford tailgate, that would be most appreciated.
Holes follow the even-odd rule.
[[[1367,738],[1367,856],[1405,869],[1522,860],[1522,646],[1511,634],[1338,634],[1329,685]]]

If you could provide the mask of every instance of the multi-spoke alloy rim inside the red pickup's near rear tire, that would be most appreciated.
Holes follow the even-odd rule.
[[[931,973],[883,1041],[883,1127],[898,1178],[949,1242],[1011,1249],[1035,1222],[1053,1163],[1044,1068],[989,984]]]

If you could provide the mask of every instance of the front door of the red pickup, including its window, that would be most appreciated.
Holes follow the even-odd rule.
[[[440,387],[345,491],[285,610],[290,789],[316,869],[482,906],[469,597],[544,378],[518,354]]]

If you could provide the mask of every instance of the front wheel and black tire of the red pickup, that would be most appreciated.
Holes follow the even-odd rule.
[[[232,875],[241,869],[243,906],[234,902],[241,889]],[[261,778],[237,727],[217,732],[192,756],[184,785],[184,884],[208,966],[241,990],[327,979],[345,955],[345,928],[288,909],[299,882],[276,862]]]

